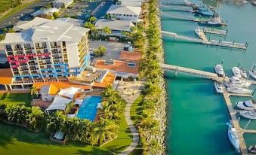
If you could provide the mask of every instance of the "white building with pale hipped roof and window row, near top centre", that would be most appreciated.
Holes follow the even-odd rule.
[[[106,14],[109,14],[110,17],[115,18],[116,20],[128,20],[132,23],[138,23],[141,21],[140,7],[132,7],[126,5],[111,5],[109,10],[106,11]]]

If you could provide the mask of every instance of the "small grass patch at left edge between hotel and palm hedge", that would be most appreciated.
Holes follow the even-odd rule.
[[[5,93],[0,94],[0,102],[12,103],[15,105],[29,106],[31,103],[30,93]]]

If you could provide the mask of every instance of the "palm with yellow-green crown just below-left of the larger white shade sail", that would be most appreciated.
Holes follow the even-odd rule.
[[[28,115],[29,128],[32,130],[39,129],[42,126],[44,113],[39,107],[32,107],[31,113]]]

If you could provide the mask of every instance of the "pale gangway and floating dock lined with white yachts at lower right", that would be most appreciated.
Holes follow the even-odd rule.
[[[200,71],[200,70],[196,70],[193,68],[185,68],[185,67],[180,67],[177,65],[168,65],[168,64],[159,64],[160,67],[164,70],[169,70],[169,71],[174,71],[175,74],[177,74],[177,72],[182,72],[185,74],[193,74],[196,76],[199,76],[201,78],[207,78],[207,79],[211,79],[214,81],[218,81],[218,82],[223,82],[223,81],[228,81],[229,78],[228,77],[218,77],[217,74],[215,73],[211,73],[208,71]],[[256,84],[256,82],[254,83]],[[246,155],[246,154],[250,154],[248,153],[246,144],[245,144],[245,138],[243,137],[243,133],[256,133],[256,130],[254,129],[242,129],[239,125],[239,119],[236,117],[236,111],[233,108],[233,105],[230,101],[230,96],[244,96],[244,97],[251,97],[251,94],[233,94],[233,93],[228,93],[227,90],[224,89],[224,92],[222,93],[224,96],[224,100],[225,100],[225,104],[227,105],[227,109],[229,111],[230,114],[230,118],[231,118],[231,122],[233,123],[234,128],[236,128],[236,132],[239,138],[239,146],[240,146],[240,150],[242,155]],[[246,126],[245,126],[246,128]]]

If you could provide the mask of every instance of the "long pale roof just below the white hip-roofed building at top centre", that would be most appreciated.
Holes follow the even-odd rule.
[[[128,20],[105,20],[100,19],[95,23],[97,29],[103,29],[108,26],[111,30],[119,30],[119,31],[131,31],[131,27],[134,27],[134,24]]]

